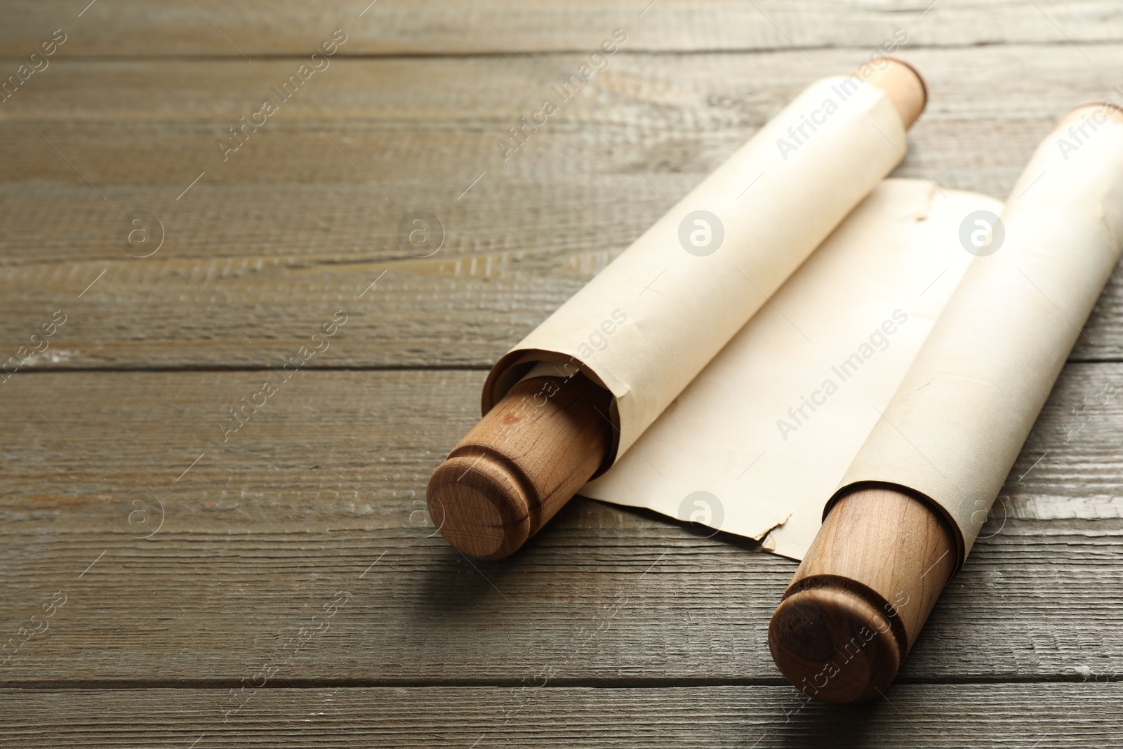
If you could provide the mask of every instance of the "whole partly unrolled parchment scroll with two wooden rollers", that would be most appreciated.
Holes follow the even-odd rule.
[[[780,672],[877,696],[978,530],[1123,240],[1123,115],[1080,108],[1008,203],[885,180],[897,61],[820,81],[489,374],[430,515],[510,555],[581,493],[802,559]]]

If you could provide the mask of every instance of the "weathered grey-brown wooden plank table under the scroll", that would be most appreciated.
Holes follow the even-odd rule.
[[[4,76],[65,36],[0,103],[0,743],[1123,740],[1121,272],[869,705],[784,683],[795,563],[755,542],[577,500],[473,563],[423,502],[491,363],[810,81],[902,29],[931,101],[896,173],[1003,197],[1058,117],[1123,99],[1119,3],[86,2],[0,9]]]

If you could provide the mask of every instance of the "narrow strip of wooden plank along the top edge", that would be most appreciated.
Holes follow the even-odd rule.
[[[676,52],[796,47],[806,52],[846,46],[871,53],[903,29],[907,46],[1052,43],[1083,45],[1094,56],[1096,43],[1123,38],[1123,18],[1110,0],[583,0],[564,6],[540,0],[326,0],[314,6],[299,0],[236,4],[195,0],[158,7],[144,0],[115,0],[86,4],[67,0],[7,3],[0,48],[12,56],[30,54],[60,27],[69,38],[58,55],[239,60],[246,55],[255,62],[265,55],[310,54],[336,28],[347,30],[343,54],[350,55],[591,52],[618,27],[628,30],[629,48]]]

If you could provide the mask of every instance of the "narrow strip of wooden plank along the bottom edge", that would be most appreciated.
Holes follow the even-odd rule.
[[[785,686],[0,691],[20,747],[1114,746],[1120,684],[909,684],[840,709]]]

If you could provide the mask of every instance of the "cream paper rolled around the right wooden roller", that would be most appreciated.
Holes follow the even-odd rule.
[[[959,531],[960,564],[1120,258],[1123,125],[1084,136],[1038,148],[1003,244],[973,263],[841,482],[839,494],[884,482],[931,499]]]

